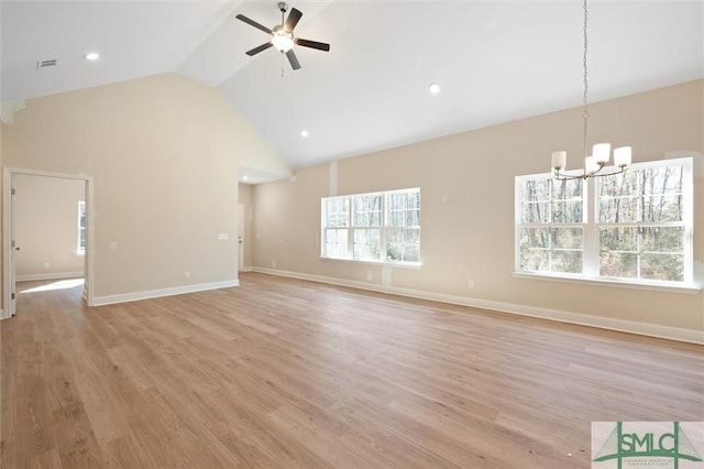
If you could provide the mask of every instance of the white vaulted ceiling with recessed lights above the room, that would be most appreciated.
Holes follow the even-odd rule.
[[[331,44],[297,47],[297,72],[273,48],[244,54],[268,36],[235,14],[271,28],[275,1],[2,0],[0,100],[178,72],[220,88],[295,168],[582,101],[580,0],[290,6],[297,36]],[[704,77],[704,0],[588,10],[590,101]]]

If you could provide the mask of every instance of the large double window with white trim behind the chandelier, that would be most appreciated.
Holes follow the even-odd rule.
[[[516,271],[692,284],[692,159],[587,182],[516,177]]]

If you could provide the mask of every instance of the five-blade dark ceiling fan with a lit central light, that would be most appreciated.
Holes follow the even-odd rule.
[[[277,24],[271,30],[257,23],[254,20],[250,20],[244,14],[237,15],[238,20],[244,21],[245,23],[256,28],[257,30],[262,30],[265,33],[272,35],[272,39],[268,42],[257,47],[254,47],[251,51],[248,51],[246,55],[252,56],[274,46],[282,54],[284,53],[286,54],[286,57],[288,57],[288,62],[290,63],[292,68],[294,70],[297,70],[300,68],[300,63],[298,62],[298,57],[296,57],[296,53],[294,52],[294,45],[302,45],[304,47],[317,48],[318,51],[324,51],[324,52],[330,51],[330,44],[326,44],[323,42],[317,42],[317,41],[309,41],[301,37],[295,37],[294,28],[296,28],[296,24],[298,24],[300,17],[302,17],[304,14],[299,10],[292,8],[290,13],[288,14],[288,18],[286,19],[286,21],[284,21],[284,17],[286,14],[286,11],[288,10],[288,4],[282,1],[282,2],[278,2],[277,7],[282,12],[282,24]]]

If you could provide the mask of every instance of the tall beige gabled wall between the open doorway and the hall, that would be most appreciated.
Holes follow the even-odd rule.
[[[28,100],[2,157],[94,177],[96,297],[237,280],[238,168],[290,171],[220,91],[176,74]]]

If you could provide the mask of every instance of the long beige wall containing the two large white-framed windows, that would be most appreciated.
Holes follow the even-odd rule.
[[[636,162],[659,160],[668,152],[696,152],[694,255],[700,281],[704,261],[703,88],[704,80],[697,80],[590,109],[590,140],[630,144]],[[318,165],[298,171],[292,181],[257,186],[254,265],[701,332],[702,292],[680,294],[512,276],[514,177],[547,173],[554,150],[566,149],[568,165],[580,167],[581,116],[581,109],[539,116]],[[331,195],[336,185],[338,194],[419,186],[422,268],[320,260],[320,198]],[[474,290],[468,286],[470,280]]]

